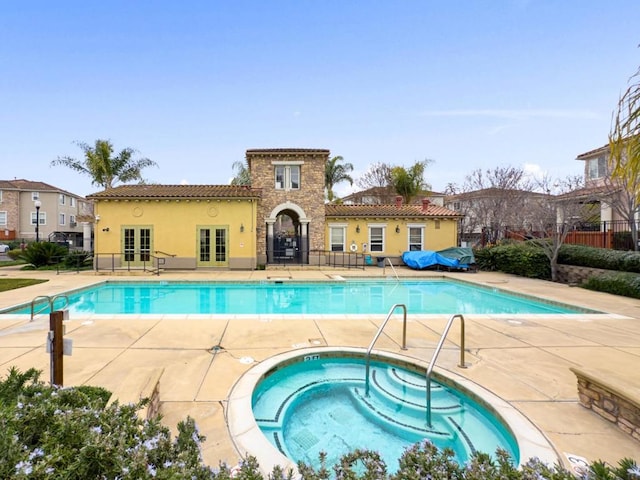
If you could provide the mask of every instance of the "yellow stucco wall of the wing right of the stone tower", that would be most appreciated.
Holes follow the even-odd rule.
[[[331,226],[345,226],[346,251],[351,251],[351,245],[355,243],[357,251],[362,253],[362,245],[367,244],[365,253],[380,254],[387,256],[400,256],[403,252],[409,250],[409,227],[423,226],[423,249],[424,250],[443,250],[449,247],[458,246],[458,222],[457,219],[345,219],[330,218],[326,219],[326,250],[331,249]],[[369,227],[384,227],[384,251],[371,252],[369,247]],[[357,228],[360,227],[360,232]],[[399,232],[396,233],[396,227]]]

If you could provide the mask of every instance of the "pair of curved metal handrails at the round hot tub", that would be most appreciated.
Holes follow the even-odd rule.
[[[385,318],[384,322],[382,322],[382,324],[380,325],[380,327],[378,328],[378,331],[376,332],[376,334],[373,337],[373,340],[371,340],[371,343],[369,344],[369,347],[367,348],[367,353],[366,353],[366,367],[365,367],[365,395],[369,396],[369,371],[371,369],[371,350],[373,350],[373,346],[375,345],[375,343],[378,341],[378,338],[380,338],[380,335],[382,334],[382,330],[384,330],[384,327],[387,325],[387,323],[389,322],[389,319],[391,318],[391,315],[393,315],[393,312],[397,309],[397,308],[402,308],[403,310],[403,319],[402,319],[402,350],[407,350],[407,306],[402,304],[402,303],[396,303],[395,305],[393,305],[391,307],[391,309],[389,310],[389,313],[387,314],[387,318]],[[426,384],[427,384],[427,425],[429,427],[431,427],[431,376],[433,373],[433,367],[438,359],[438,355],[440,355],[440,351],[442,350],[442,347],[444,345],[444,341],[447,338],[447,335],[449,334],[449,330],[451,329],[451,325],[453,324],[453,321],[459,318],[460,319],[460,363],[458,364],[458,367],[460,368],[467,368],[467,366],[465,365],[464,362],[464,349],[465,349],[465,342],[464,342],[464,316],[461,313],[456,313],[454,315],[451,315],[451,317],[449,317],[449,320],[447,321],[447,325],[444,328],[444,332],[442,332],[442,335],[440,336],[440,341],[438,342],[438,345],[436,346],[436,349],[433,352],[433,356],[431,357],[431,362],[429,362],[429,367],[427,368],[427,372],[425,374],[425,380],[426,380]]]

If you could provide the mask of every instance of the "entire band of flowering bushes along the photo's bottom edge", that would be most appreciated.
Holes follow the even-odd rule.
[[[107,406],[109,392],[99,387],[56,388],[39,380],[40,373],[12,368],[0,381],[0,478],[2,479],[213,479],[263,480],[255,458],[233,470],[202,463],[204,437],[187,418],[171,439],[160,419],[142,420],[138,404]],[[301,480],[575,480],[559,466],[531,459],[518,469],[498,450],[495,459],[477,453],[460,465],[453,451],[438,450],[429,441],[408,448],[395,474],[387,473],[380,456],[356,450],[328,469],[298,465]],[[270,480],[292,480],[293,472],[276,467]],[[631,459],[617,467],[594,462],[585,480],[640,480]]]

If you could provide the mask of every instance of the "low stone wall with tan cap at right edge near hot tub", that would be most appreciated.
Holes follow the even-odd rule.
[[[640,389],[620,382],[610,372],[587,373],[571,368],[578,379],[578,397],[582,406],[616,424],[640,441]]]

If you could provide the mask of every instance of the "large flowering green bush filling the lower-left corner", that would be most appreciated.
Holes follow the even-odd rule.
[[[0,383],[0,478],[225,478],[202,463],[193,419],[172,440],[159,418],[138,417],[144,404],[106,406],[99,392],[11,369]]]

